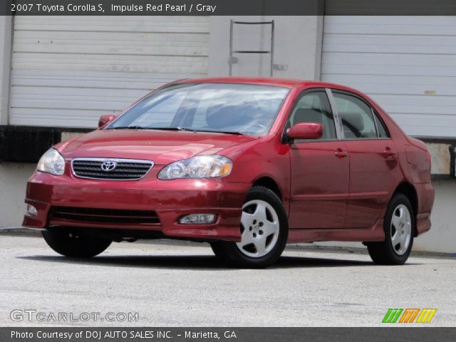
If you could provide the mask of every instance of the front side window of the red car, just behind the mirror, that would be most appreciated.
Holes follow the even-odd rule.
[[[287,127],[298,123],[320,123],[323,135],[320,140],[336,139],[336,126],[328,97],[324,91],[304,93],[294,105]]]

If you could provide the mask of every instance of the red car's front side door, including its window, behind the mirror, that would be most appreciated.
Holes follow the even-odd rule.
[[[345,143],[338,140],[325,90],[301,94],[287,127],[297,123],[321,123],[323,137],[291,143],[290,228],[343,228],[350,160]]]

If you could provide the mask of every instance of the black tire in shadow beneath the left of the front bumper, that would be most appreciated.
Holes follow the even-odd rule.
[[[80,236],[65,228],[45,230],[42,234],[49,247],[65,257],[95,257],[111,244],[110,240]]]

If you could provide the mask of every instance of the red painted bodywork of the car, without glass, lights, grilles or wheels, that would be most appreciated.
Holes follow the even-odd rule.
[[[35,172],[27,185],[26,202],[37,217],[24,218],[31,228],[54,225],[150,229],[169,237],[239,241],[241,207],[252,184],[268,177],[280,190],[289,214],[289,242],[324,240],[381,241],[386,206],[401,183],[418,197],[417,228],[430,228],[434,190],[430,184],[430,156],[425,144],[408,138],[390,116],[358,90],[331,83],[275,78],[208,78],[178,83],[252,83],[291,89],[269,133],[262,137],[219,133],[150,130],[95,130],[61,142],[55,148],[67,160],[62,176]],[[309,88],[346,90],[365,98],[390,132],[388,139],[283,140],[294,101]],[[110,116],[110,115],[107,115]],[[112,118],[100,120],[105,125]],[[296,138],[316,139],[318,125],[291,128]],[[320,126],[321,128],[321,126]],[[296,134],[295,134],[296,133]],[[317,136],[318,135],[318,136]],[[220,179],[158,180],[162,167],[196,155],[218,154],[233,162],[232,173]],[[155,162],[138,181],[83,180],[71,173],[73,157],[116,157]],[[49,222],[51,206],[154,210],[160,224],[95,224]],[[218,215],[209,225],[182,225],[182,214]]]

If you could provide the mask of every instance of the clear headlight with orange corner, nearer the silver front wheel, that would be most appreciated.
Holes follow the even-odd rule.
[[[233,163],[222,155],[199,155],[186,160],[172,162],[165,166],[158,178],[175,180],[177,178],[213,178],[229,175]]]

